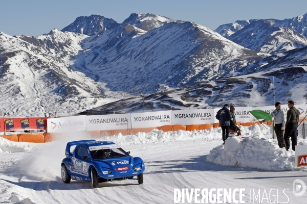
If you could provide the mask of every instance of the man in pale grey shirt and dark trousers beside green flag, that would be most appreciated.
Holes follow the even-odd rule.
[[[279,102],[275,104],[275,108],[276,109],[271,113],[271,116],[275,120],[274,130],[277,137],[278,146],[280,148],[282,147],[287,148],[283,138],[284,124],[286,124],[286,119],[284,118],[284,112],[281,109],[281,104]]]

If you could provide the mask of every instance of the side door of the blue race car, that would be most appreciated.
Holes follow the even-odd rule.
[[[85,146],[77,146],[74,160],[74,167],[76,172],[88,176],[89,173],[87,169],[89,167],[89,160],[83,159],[82,157],[89,158],[89,153],[87,152],[87,148]]]

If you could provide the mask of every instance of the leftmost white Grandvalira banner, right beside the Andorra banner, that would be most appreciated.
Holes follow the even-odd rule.
[[[130,128],[130,114],[86,116],[86,131],[122,130]]]

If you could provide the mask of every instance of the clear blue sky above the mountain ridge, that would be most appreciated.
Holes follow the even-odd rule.
[[[92,14],[121,23],[131,13],[153,13],[174,20],[192,21],[215,30],[236,20],[285,19],[307,13],[306,0],[215,1],[16,1],[0,0],[0,31],[8,35],[38,36],[63,29],[78,16]]]

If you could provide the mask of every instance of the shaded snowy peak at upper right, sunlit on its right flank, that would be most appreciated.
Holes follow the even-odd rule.
[[[307,46],[307,38],[295,30],[257,20],[228,37],[229,40],[253,50],[274,54]]]

